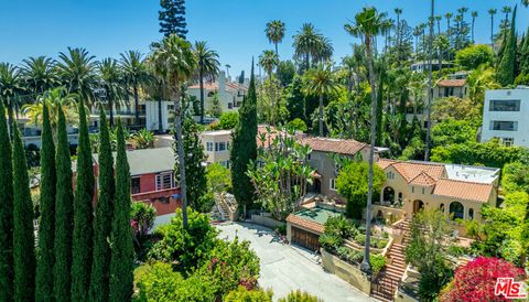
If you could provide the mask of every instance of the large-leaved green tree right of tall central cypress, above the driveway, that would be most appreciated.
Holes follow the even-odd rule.
[[[253,183],[258,202],[276,219],[283,220],[300,206],[307,183],[312,183],[313,171],[306,163],[312,150],[284,129],[267,129],[258,139],[261,147],[257,161],[260,164],[258,168],[257,162],[250,162],[247,175]]]

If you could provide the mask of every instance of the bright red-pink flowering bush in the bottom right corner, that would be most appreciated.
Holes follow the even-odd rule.
[[[460,267],[454,280],[446,287],[440,301],[475,300],[504,301],[495,294],[498,277],[525,281],[526,272],[503,259],[478,257]]]

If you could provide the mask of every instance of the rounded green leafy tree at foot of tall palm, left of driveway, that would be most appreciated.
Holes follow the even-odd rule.
[[[162,236],[149,252],[151,259],[174,262],[179,271],[187,273],[205,260],[215,247],[217,231],[209,225],[207,215],[188,211],[188,225],[182,224],[183,213],[176,209],[171,224],[155,230]]]

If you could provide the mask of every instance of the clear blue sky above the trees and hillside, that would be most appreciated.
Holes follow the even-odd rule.
[[[487,10],[514,6],[519,0],[443,0],[436,13],[462,7],[477,11],[476,42],[488,43],[490,19]],[[252,56],[272,48],[264,36],[264,24],[273,19],[287,23],[287,34],[279,47],[282,58],[292,56],[292,35],[305,22],[312,22],[328,36],[335,60],[350,52],[349,36],[343,25],[364,6],[388,11],[403,9],[410,25],[424,22],[429,0],[190,0],[187,1],[188,40],[205,40],[218,51],[223,66],[230,74],[248,72]],[[98,58],[127,50],[149,51],[159,40],[158,0],[0,0],[0,62],[19,63],[36,55],[56,56],[66,46],[83,46]],[[529,9],[519,7],[518,30],[529,26]],[[467,13],[469,20],[469,12]],[[504,18],[496,15],[496,24]],[[442,21],[445,26],[445,21]]]

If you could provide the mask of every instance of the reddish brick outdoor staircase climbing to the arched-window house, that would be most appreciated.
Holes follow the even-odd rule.
[[[406,271],[404,248],[410,236],[410,222],[399,224],[402,229],[402,242],[393,244],[387,254],[391,263],[387,265],[371,283],[371,296],[380,301],[393,301],[400,280]]]

